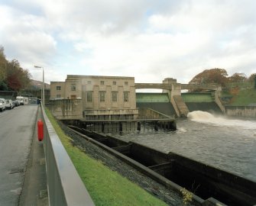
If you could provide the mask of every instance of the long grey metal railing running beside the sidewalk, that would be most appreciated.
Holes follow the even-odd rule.
[[[50,205],[95,205],[42,106]]]

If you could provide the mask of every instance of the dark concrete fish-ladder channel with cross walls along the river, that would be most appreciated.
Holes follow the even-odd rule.
[[[125,142],[83,128],[70,128],[167,188],[177,192],[181,188],[190,190],[195,205],[215,205],[219,201],[221,205],[256,204],[256,182],[177,153],[162,153],[138,143]]]

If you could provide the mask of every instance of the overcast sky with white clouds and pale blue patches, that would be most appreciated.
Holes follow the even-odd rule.
[[[0,45],[32,79],[256,72],[254,0],[0,0]]]

